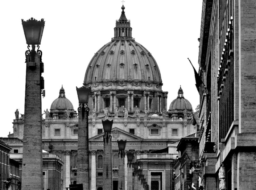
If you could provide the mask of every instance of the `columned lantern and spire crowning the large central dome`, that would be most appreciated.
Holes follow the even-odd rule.
[[[125,16],[125,6],[121,7],[122,12],[119,20],[116,21],[116,27],[114,28],[114,38],[112,40],[129,39],[132,40],[130,27],[130,20]]]

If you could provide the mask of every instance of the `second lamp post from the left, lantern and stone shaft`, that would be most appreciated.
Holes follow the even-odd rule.
[[[88,134],[88,100],[91,87],[77,88],[78,96],[78,149],[77,149],[77,183],[83,184],[85,190],[89,190],[89,134]],[[86,115],[85,115],[86,114]],[[85,117],[84,117],[85,116]]]

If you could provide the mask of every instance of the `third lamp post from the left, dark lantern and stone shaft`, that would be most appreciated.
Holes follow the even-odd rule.
[[[113,125],[113,120],[102,120],[103,130],[104,130],[104,162],[103,162],[103,189],[112,190],[112,136],[111,130]],[[110,143],[108,142],[110,139]]]

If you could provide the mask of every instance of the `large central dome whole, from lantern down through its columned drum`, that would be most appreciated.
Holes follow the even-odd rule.
[[[129,114],[137,109],[161,113],[167,109],[168,92],[162,91],[160,70],[150,51],[132,38],[124,9],[114,37],[87,67],[84,86],[91,86],[89,104],[98,113],[105,108],[113,113],[116,107],[127,108]]]

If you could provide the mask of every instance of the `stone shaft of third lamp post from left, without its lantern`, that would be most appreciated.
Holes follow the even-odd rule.
[[[106,134],[108,135],[108,134]],[[104,137],[103,137],[104,138]],[[111,138],[104,140],[103,153],[103,189],[112,189],[112,142]]]

